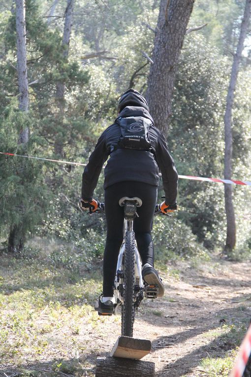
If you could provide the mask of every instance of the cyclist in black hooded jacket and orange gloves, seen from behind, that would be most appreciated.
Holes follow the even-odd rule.
[[[134,121],[133,123],[131,123]],[[150,141],[147,149],[120,147],[121,124],[130,122],[134,134],[139,124],[145,126],[145,139]],[[128,140],[128,138],[127,138]],[[139,144],[139,143],[138,143]],[[123,145],[123,144],[122,144]],[[89,163],[82,176],[82,198],[80,205],[95,211],[98,202],[93,199],[99,174],[104,162],[110,156],[104,169],[104,203],[107,235],[103,259],[103,294],[95,304],[95,310],[113,313],[115,298],[113,283],[119,250],[123,241],[124,209],[119,206],[122,197],[139,197],[138,217],[134,220],[134,232],[142,260],[142,277],[147,284],[157,285],[157,297],[163,296],[164,286],[154,268],[154,245],[151,236],[153,216],[157,203],[159,170],[165,192],[165,201],[160,210],[164,213],[177,209],[176,198],[178,174],[169,154],[163,134],[154,126],[145,98],[134,89],[127,90],[118,103],[118,117],[99,137]]]

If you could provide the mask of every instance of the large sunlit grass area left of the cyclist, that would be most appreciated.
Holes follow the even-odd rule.
[[[93,310],[101,290],[100,268],[81,271],[81,255],[69,268],[67,258],[73,261],[74,255],[59,258],[57,250],[26,249],[0,257],[1,364],[19,367],[19,376],[36,376],[39,366],[32,362],[50,360],[44,375],[67,370],[83,376],[90,365],[83,366],[79,355],[92,351],[85,334],[94,328],[98,333],[102,321]],[[31,370],[23,368],[27,360]]]

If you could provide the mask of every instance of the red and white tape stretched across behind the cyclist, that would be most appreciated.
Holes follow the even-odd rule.
[[[70,165],[77,165],[77,166],[86,166],[87,165],[87,164],[81,164],[79,162],[69,162],[69,161],[62,161],[62,160],[52,160],[52,159],[49,159],[49,158],[42,158],[42,157],[23,156],[23,155],[15,154],[15,153],[0,152],[0,154],[6,155],[6,156],[32,158],[32,159],[35,159],[35,160],[52,161],[52,162],[58,162],[60,164],[70,164]],[[206,181],[206,182],[214,182],[214,183],[227,183],[227,184],[232,184],[232,185],[251,186],[250,181],[239,181],[239,180],[237,181],[237,180],[231,180],[231,179],[196,177],[196,176],[192,176],[192,175],[179,175],[179,178],[192,179],[192,180],[196,180],[196,181]]]

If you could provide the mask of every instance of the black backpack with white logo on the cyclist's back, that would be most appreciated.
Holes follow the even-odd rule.
[[[143,117],[118,118],[116,123],[120,125],[121,136],[117,148],[129,148],[138,150],[151,150],[149,129],[153,122]],[[115,149],[117,149],[115,147]]]

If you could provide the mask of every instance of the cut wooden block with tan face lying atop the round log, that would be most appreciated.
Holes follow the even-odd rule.
[[[151,350],[151,341],[120,336],[115,343],[110,356],[139,360],[150,353]]]

